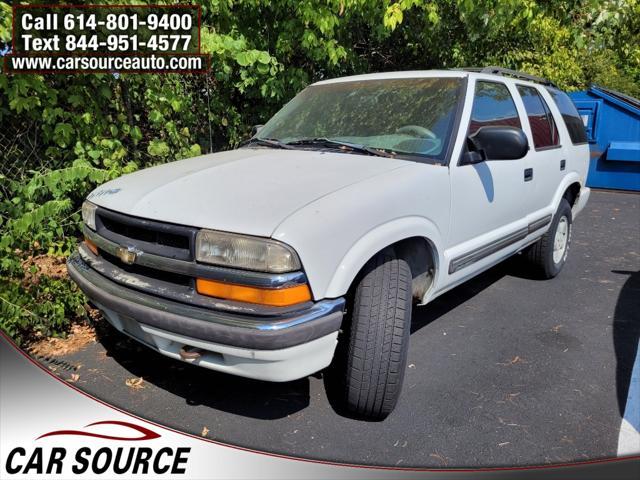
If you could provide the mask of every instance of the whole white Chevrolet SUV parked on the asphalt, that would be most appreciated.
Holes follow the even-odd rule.
[[[69,273],[118,330],[165,355],[276,382],[333,363],[344,404],[384,418],[412,303],[517,252],[557,275],[588,161],[580,116],[544,79],[326,80],[241,148],[93,191]]]

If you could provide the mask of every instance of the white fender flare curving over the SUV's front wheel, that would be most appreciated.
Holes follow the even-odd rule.
[[[401,240],[412,237],[424,238],[434,249],[435,278],[430,290],[436,285],[439,268],[443,259],[441,234],[436,225],[425,217],[410,216],[391,220],[369,230],[360,237],[347,251],[325,292],[327,298],[337,298],[345,295],[356,275],[365,264],[378,252]]]

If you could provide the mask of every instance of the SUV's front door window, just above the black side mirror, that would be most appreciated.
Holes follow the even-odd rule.
[[[476,82],[469,135],[482,127],[497,125],[522,128],[509,89],[504,83]]]

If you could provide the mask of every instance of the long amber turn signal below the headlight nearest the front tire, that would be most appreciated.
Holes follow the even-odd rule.
[[[202,295],[234,300],[236,302],[259,303],[273,307],[287,307],[311,300],[307,284],[288,288],[256,288],[232,283],[216,282],[206,278],[196,278],[196,289]]]

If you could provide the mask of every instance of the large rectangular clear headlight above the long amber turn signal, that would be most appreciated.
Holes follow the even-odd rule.
[[[300,269],[296,252],[266,238],[200,230],[196,237],[196,260],[224,267],[283,273]]]

